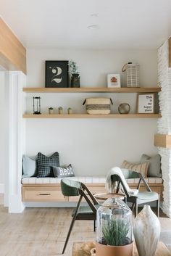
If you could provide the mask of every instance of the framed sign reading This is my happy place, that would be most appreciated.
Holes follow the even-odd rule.
[[[154,94],[138,94],[138,113],[154,113]]]

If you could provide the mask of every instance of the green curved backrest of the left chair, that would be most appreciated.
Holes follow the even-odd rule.
[[[65,197],[75,197],[79,196],[78,189],[81,188],[81,183],[79,181],[72,181],[67,178],[61,180],[61,190]]]

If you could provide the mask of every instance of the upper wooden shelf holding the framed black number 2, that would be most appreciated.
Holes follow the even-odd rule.
[[[107,88],[107,87],[80,87],[80,88],[45,88],[45,87],[24,87],[22,91],[25,92],[39,92],[39,93],[52,93],[52,92],[115,92],[115,93],[155,93],[161,91],[160,87],[125,87],[125,88]]]

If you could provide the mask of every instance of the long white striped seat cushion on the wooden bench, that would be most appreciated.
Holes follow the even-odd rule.
[[[22,178],[22,184],[59,184],[61,182],[62,178],[36,178],[36,177],[30,177],[30,178]],[[101,184],[101,183],[106,183],[106,177],[105,176],[92,176],[92,177],[82,177],[82,176],[75,176],[75,177],[70,177],[73,181],[80,181],[82,183],[86,184]],[[154,177],[149,177],[145,178],[147,183],[162,183],[162,178],[154,178]],[[138,183],[139,178],[129,178],[127,180],[128,183],[133,184],[133,183]]]

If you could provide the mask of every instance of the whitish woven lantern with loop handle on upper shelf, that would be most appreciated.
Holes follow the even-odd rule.
[[[127,87],[140,87],[140,65],[132,62],[122,67],[122,72],[127,72]]]

